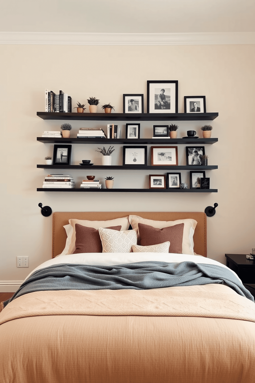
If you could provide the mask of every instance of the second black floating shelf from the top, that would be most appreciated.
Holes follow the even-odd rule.
[[[37,141],[43,142],[44,144],[149,144],[149,145],[178,145],[178,144],[214,144],[218,142],[218,138],[170,138],[169,139],[160,139],[160,138],[140,138],[140,139],[127,139],[127,138],[54,138],[54,137],[37,137]]]

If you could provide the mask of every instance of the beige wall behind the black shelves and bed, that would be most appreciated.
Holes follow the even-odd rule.
[[[52,216],[41,215],[39,202],[53,211],[204,211],[217,202],[216,215],[207,219],[208,257],[224,263],[225,253],[249,254],[255,247],[254,46],[3,45],[0,52],[0,282],[24,280],[34,267],[51,257]],[[95,195],[36,191],[47,173],[36,169],[36,164],[44,163],[45,155],[53,151],[53,145],[36,142],[36,137],[44,130],[60,129],[62,123],[36,116],[37,111],[44,111],[45,88],[67,92],[74,105],[95,96],[101,105],[111,102],[115,111],[122,113],[123,93],[144,93],[146,104],[146,80],[166,79],[179,81],[179,112],[184,111],[185,95],[205,95],[206,110],[219,112],[212,121],[212,136],[219,142],[206,146],[209,164],[219,166],[206,172],[218,193]],[[73,136],[81,126],[92,126],[77,121],[71,124]],[[124,136],[124,123],[119,124]],[[141,123],[141,137],[151,137],[152,126],[153,122]],[[193,128],[201,136],[200,127],[199,122],[180,121],[179,137]],[[71,163],[91,158],[94,164],[100,164],[96,146],[73,145],[72,149]],[[121,148],[115,149],[113,164],[122,164]],[[178,149],[179,164],[185,165],[185,146]],[[78,185],[88,174],[78,170],[72,173]],[[148,172],[141,170],[94,173],[101,180],[114,176],[115,187],[143,187],[148,182]],[[188,171],[182,172],[182,181],[186,180]],[[16,267],[17,255],[29,256],[29,268]]]

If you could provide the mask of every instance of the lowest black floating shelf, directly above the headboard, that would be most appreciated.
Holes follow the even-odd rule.
[[[37,191],[81,191],[92,193],[217,193],[218,189],[85,189],[37,188]]]

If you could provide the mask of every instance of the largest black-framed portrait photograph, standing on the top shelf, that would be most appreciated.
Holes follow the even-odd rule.
[[[178,113],[178,81],[147,81],[147,113]]]

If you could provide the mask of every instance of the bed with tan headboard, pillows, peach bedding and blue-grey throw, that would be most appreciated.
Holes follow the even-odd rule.
[[[2,307],[4,383],[254,383],[254,300],[204,213],[54,213],[52,259]]]

